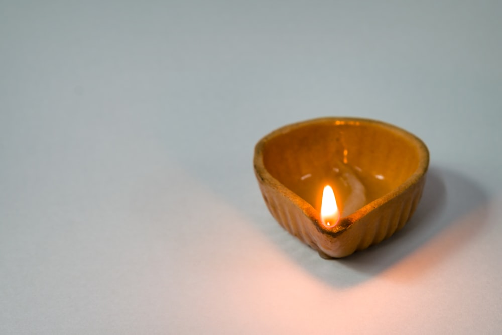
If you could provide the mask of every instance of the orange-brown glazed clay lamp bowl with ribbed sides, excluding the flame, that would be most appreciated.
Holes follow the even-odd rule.
[[[426,145],[391,124],[327,117],[279,128],[255,146],[255,175],[272,216],[323,258],[363,250],[401,229],[420,201]],[[320,216],[333,185],[341,217]]]

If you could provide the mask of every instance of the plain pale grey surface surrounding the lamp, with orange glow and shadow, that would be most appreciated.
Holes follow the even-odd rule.
[[[0,333],[498,333],[502,3],[0,2]],[[253,147],[320,116],[428,145],[422,202],[323,260]]]

